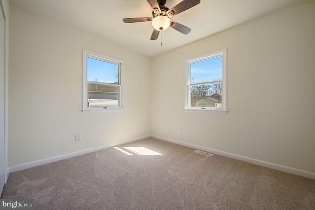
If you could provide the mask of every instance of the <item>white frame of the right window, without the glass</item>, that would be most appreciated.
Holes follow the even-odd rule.
[[[185,107],[184,111],[185,112],[213,112],[213,113],[222,113],[226,114],[227,113],[227,80],[226,80],[226,60],[227,60],[227,54],[226,54],[227,49],[221,49],[215,52],[211,52],[208,54],[204,54],[201,56],[197,56],[194,58],[187,59],[185,61],[185,66],[186,66],[186,88],[185,88]],[[213,59],[222,56],[222,98],[221,98],[221,108],[216,108],[216,107],[189,107],[190,103],[190,91],[189,91],[189,86],[190,86],[190,64],[193,63],[198,63],[201,61]],[[196,85],[196,84],[194,84]],[[202,85],[202,83],[200,84]]]

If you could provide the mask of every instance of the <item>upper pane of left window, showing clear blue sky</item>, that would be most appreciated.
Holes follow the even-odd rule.
[[[88,81],[118,84],[119,65],[88,58]]]

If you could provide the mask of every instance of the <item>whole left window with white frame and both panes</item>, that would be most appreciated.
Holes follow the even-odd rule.
[[[123,107],[122,63],[83,50],[83,112]]]

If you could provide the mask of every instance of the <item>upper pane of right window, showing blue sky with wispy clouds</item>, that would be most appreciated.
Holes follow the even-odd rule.
[[[222,81],[222,56],[190,64],[190,84]]]

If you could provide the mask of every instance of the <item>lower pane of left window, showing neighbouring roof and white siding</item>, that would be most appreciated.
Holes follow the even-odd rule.
[[[88,106],[119,106],[119,86],[88,82]]]

